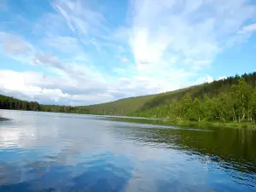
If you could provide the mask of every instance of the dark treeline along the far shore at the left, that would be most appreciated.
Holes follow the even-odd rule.
[[[58,105],[42,105],[38,102],[26,102],[11,96],[0,95],[0,109],[12,110],[28,110],[28,111],[44,111],[55,113],[90,113],[87,108],[58,106]]]

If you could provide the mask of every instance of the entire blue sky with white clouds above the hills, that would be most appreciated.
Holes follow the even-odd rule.
[[[90,105],[256,71],[255,0],[0,0],[0,94]]]

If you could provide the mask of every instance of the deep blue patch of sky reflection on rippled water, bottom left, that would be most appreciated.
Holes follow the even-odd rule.
[[[131,178],[131,161],[111,153],[75,166],[35,161],[23,167],[2,165],[1,191],[120,191]],[[113,163],[114,162],[114,163]],[[123,167],[123,168],[120,168]]]

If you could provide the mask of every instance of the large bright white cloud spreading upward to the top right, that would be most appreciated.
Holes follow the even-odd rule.
[[[204,67],[255,16],[247,0],[142,0],[133,1],[132,8],[130,44],[138,67],[163,62],[169,54]]]

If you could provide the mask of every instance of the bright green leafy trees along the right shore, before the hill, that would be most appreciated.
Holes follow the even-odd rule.
[[[190,121],[256,121],[256,88],[245,78],[238,79],[226,92],[192,97],[189,92],[168,104],[131,113],[132,116],[186,119]]]

